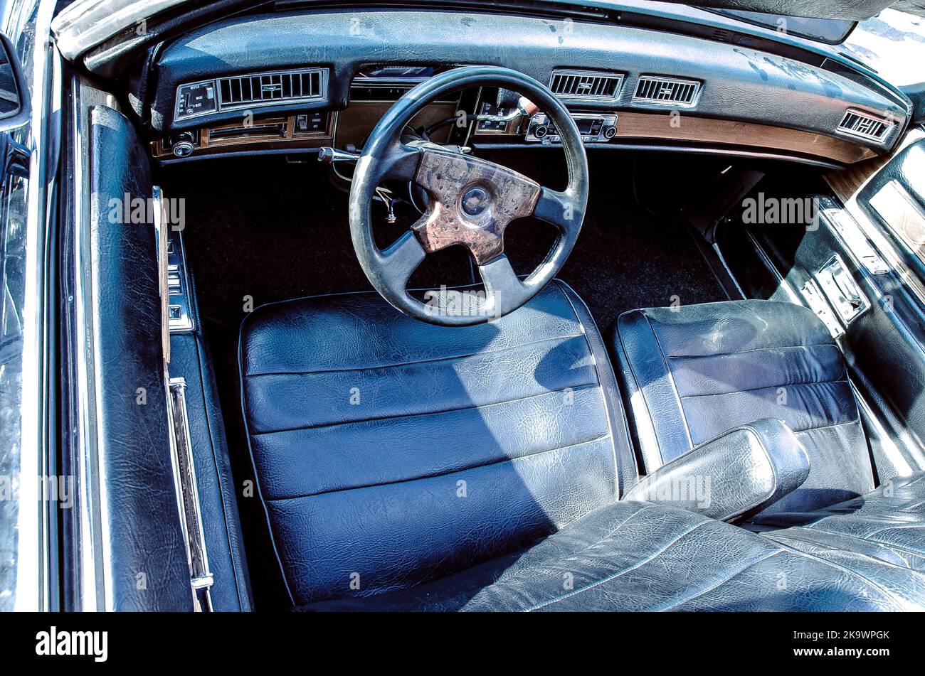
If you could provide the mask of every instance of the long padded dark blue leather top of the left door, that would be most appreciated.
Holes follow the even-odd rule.
[[[99,510],[108,524],[106,596],[113,610],[191,610],[190,568],[177,511],[159,336],[153,228],[114,223],[112,200],[150,199],[145,149],[129,120],[91,110],[91,241]],[[145,404],[136,397],[145,393]],[[140,585],[143,574],[145,585]]]

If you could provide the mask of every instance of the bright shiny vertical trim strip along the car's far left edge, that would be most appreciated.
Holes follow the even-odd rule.
[[[24,70],[26,78],[31,80],[31,119],[28,126],[20,127],[13,135],[13,139],[19,140],[31,153],[26,200],[22,203],[17,199],[15,205],[7,205],[10,214],[16,211],[16,220],[25,215],[19,448],[8,450],[19,456],[16,582],[15,591],[5,590],[15,595],[12,601],[15,610],[51,610],[53,598],[57,597],[56,590],[51,587],[56,580],[50,571],[51,548],[57,545],[49,541],[52,532],[49,510],[56,509],[57,503],[53,501],[54,496],[48,494],[49,482],[44,480],[56,443],[50,437],[49,425],[49,417],[55,415],[54,404],[49,403],[49,398],[56,396],[57,389],[56,371],[50,370],[49,352],[56,336],[49,332],[55,331],[55,325],[50,323],[50,309],[54,308],[57,295],[48,286],[53,271],[51,252],[56,226],[49,219],[56,213],[53,199],[60,151],[62,88],[59,54],[49,38],[54,9],[55,3],[51,0],[19,6],[20,12],[33,13],[29,16],[7,14],[4,26],[5,30],[16,30],[20,38],[34,30],[34,38],[26,38],[23,47],[26,51]],[[33,50],[31,54],[29,50]]]

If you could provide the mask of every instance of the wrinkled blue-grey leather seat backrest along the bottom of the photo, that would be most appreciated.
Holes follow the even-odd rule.
[[[920,536],[923,488],[919,475],[908,496],[872,496],[883,499],[882,525],[906,504],[905,523]],[[907,501],[913,491],[919,499]],[[792,530],[768,537],[663,503],[621,501],[446,579],[303,610],[925,610],[915,566],[870,556],[864,539],[823,554],[791,546]]]

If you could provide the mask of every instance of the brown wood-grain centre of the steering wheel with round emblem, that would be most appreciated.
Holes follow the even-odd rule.
[[[452,151],[423,151],[414,181],[434,198],[412,226],[424,250],[462,244],[479,265],[504,252],[504,228],[533,213],[540,194],[531,178]]]

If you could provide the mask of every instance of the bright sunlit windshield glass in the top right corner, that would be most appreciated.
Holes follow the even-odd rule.
[[[896,87],[925,81],[925,21],[921,17],[884,9],[857,24],[844,46]]]

